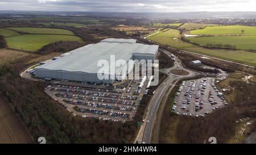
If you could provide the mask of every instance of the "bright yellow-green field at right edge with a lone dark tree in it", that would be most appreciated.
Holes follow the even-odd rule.
[[[242,33],[242,30],[245,30]],[[256,27],[253,26],[214,26],[201,30],[191,31],[192,35],[256,35]]]

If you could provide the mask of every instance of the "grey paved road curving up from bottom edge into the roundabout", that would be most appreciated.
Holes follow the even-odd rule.
[[[159,51],[166,53],[171,58],[170,52],[168,52],[164,49],[159,49]],[[181,78],[185,78],[185,77],[193,77],[193,76],[196,76],[197,74],[199,74],[199,73],[195,73],[191,70],[183,68],[179,58],[177,58],[176,56],[174,56],[174,58],[175,58],[175,63],[172,68],[160,70],[160,72],[168,74],[168,77],[164,82],[162,82],[158,86],[158,88],[155,90],[155,94],[152,96],[152,98],[150,100],[146,115],[144,117],[144,123],[142,124],[142,127],[137,135],[136,141],[138,140],[138,143],[149,144],[151,142],[152,131],[154,128],[156,114],[158,112],[160,102],[161,102],[162,98],[164,97],[164,94],[166,94],[168,87],[172,85],[172,83],[175,81],[175,79],[181,79]],[[170,70],[172,70],[172,69],[183,69],[183,70],[186,70],[189,74],[187,76],[177,76],[175,74],[169,73]]]

